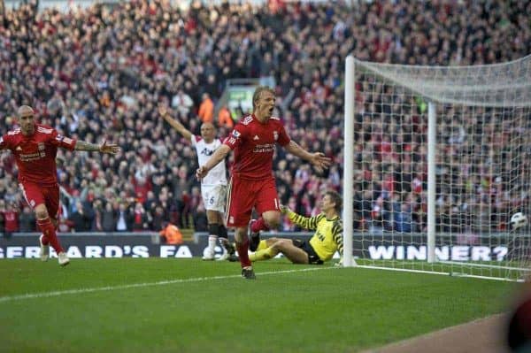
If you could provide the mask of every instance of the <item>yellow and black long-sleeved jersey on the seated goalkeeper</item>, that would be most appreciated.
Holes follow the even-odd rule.
[[[342,220],[339,216],[327,219],[324,213],[320,213],[315,217],[304,217],[289,211],[288,217],[297,226],[315,230],[310,244],[321,260],[331,259],[335,251],[339,251],[342,257]]]

